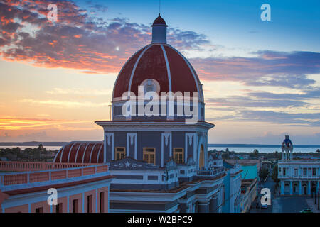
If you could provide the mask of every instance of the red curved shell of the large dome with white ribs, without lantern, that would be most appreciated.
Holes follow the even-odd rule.
[[[164,43],[146,45],[127,60],[114,83],[113,99],[124,92],[137,96],[138,86],[146,79],[159,82],[160,92],[202,92],[198,75],[188,60]]]

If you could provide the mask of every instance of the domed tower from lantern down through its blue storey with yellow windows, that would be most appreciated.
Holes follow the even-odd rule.
[[[124,63],[114,83],[112,121],[105,131],[104,162],[131,157],[165,167],[194,161],[208,167],[208,130],[202,84],[186,57],[166,43],[166,21],[152,24],[151,43]]]

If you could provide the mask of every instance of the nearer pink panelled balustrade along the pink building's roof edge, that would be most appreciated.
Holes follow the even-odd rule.
[[[108,165],[85,165],[80,167],[72,167],[73,165],[63,165],[70,166],[64,170],[49,169],[41,170],[37,172],[19,172],[19,173],[2,173],[0,174],[0,187],[16,184],[28,184],[34,182],[46,182],[57,179],[68,179],[73,177],[82,177],[86,175],[95,175],[101,172],[108,172]],[[52,166],[50,166],[52,167]],[[58,167],[61,167],[58,165]],[[25,170],[25,169],[24,169]]]

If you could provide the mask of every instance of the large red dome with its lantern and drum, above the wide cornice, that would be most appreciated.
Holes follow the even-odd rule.
[[[167,25],[160,15],[151,27],[151,44],[127,60],[114,83],[112,120],[203,121],[203,90],[196,71],[166,43]]]

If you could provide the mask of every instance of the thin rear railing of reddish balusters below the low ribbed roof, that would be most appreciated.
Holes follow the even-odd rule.
[[[57,170],[100,164],[92,163],[54,163],[54,162],[0,162],[0,171],[38,171],[38,170]]]

